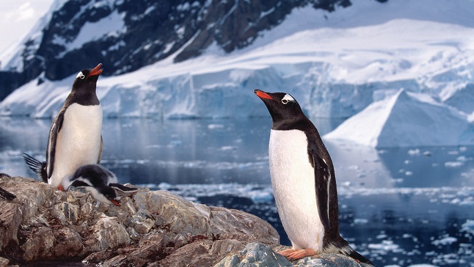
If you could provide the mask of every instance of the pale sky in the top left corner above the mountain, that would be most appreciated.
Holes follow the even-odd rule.
[[[18,44],[54,0],[0,1],[0,54]]]

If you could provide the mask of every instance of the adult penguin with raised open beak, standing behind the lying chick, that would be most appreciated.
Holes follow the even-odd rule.
[[[102,157],[102,107],[95,94],[101,66],[77,74],[64,106],[51,125],[46,161],[40,162],[41,168],[35,170],[40,179],[60,190],[64,190],[61,188],[64,177],[73,174],[79,166],[98,164]],[[30,168],[37,164],[32,163],[36,159],[26,157],[30,158],[29,163],[25,158]]]

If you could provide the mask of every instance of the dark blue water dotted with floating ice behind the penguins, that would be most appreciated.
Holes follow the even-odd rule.
[[[324,134],[341,121],[313,120]],[[22,152],[44,159],[51,121],[0,118],[0,172],[32,177]],[[252,212],[290,244],[272,199],[271,119],[104,120],[102,164],[120,181]],[[375,150],[326,142],[339,189],[341,233],[377,266],[471,266],[474,148]],[[471,223],[472,221],[472,223]]]

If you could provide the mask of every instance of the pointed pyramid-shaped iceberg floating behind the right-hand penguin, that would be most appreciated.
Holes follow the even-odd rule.
[[[424,94],[399,90],[371,103],[324,139],[343,139],[375,148],[474,144],[467,115]]]

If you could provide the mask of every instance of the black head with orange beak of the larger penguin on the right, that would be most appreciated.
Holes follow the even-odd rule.
[[[291,129],[295,123],[307,120],[300,105],[290,94],[285,92],[263,92],[254,90],[255,95],[262,99],[272,115],[274,130]]]

